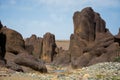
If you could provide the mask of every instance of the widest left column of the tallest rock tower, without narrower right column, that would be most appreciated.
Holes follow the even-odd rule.
[[[91,8],[85,8],[81,12],[75,12],[73,16],[74,34],[79,35],[86,41],[95,40],[95,22],[94,11]]]

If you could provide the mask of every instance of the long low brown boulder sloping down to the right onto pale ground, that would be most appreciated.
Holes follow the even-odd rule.
[[[47,72],[45,63],[42,60],[35,58],[34,56],[29,54],[24,54],[24,53],[18,54],[14,62],[18,65],[30,67],[42,73]]]

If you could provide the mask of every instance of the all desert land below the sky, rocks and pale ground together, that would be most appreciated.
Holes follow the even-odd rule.
[[[0,22],[0,80],[120,80],[120,30],[91,7],[73,15],[70,40],[22,35]]]

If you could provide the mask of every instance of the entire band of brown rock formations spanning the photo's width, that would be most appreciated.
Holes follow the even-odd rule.
[[[24,71],[22,65],[47,72],[44,62],[80,68],[120,57],[120,30],[113,36],[100,14],[91,7],[75,12],[73,22],[69,50],[57,48],[51,33],[43,38],[32,35],[24,41],[20,33],[0,22],[0,65],[16,71]]]

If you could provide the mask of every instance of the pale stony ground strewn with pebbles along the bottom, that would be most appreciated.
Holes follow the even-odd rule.
[[[7,73],[2,70],[0,80],[120,80],[120,63],[104,62],[81,69],[47,65],[48,73]],[[3,72],[4,71],[4,72]],[[8,71],[9,72],[9,71]],[[5,73],[5,74],[3,74]]]

